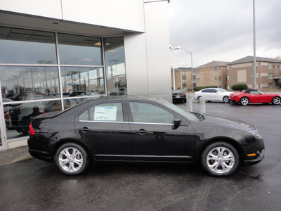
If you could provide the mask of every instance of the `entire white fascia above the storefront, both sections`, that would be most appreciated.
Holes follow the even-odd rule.
[[[0,10],[144,32],[143,0],[0,0]]]

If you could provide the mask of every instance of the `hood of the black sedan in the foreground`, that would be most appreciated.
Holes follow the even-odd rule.
[[[216,115],[204,115],[202,124],[216,124],[216,127],[229,128],[229,129],[240,129],[244,131],[256,130],[254,125],[251,125],[242,120],[237,120],[232,117],[218,117]]]

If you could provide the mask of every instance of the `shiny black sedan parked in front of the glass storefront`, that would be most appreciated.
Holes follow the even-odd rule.
[[[189,113],[159,98],[86,101],[30,124],[32,156],[80,174],[91,162],[201,162],[226,176],[264,157],[258,129],[238,120]]]

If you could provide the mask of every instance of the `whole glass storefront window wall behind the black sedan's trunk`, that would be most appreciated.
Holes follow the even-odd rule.
[[[127,94],[123,37],[102,42],[99,37],[0,27],[0,46],[1,116],[8,141],[27,136],[37,115],[106,94],[105,79],[107,95]],[[2,141],[0,130],[0,146]]]

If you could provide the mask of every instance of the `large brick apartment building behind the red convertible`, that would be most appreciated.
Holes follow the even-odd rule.
[[[254,88],[254,56],[246,56],[228,63],[228,89],[234,84]],[[281,82],[281,60],[256,57],[256,89],[277,87]]]

